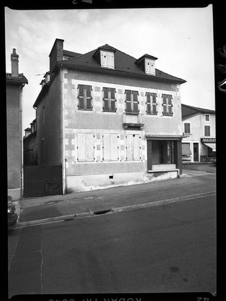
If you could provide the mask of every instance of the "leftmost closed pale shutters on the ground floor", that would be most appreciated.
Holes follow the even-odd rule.
[[[77,161],[94,161],[93,133],[77,133]]]

